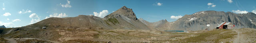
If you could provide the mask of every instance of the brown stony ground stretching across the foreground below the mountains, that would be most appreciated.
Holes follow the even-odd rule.
[[[10,28],[9,28],[10,29]],[[11,30],[11,29],[10,29]],[[40,29],[39,29],[40,30]],[[212,29],[210,31],[171,32],[143,29],[41,29],[38,35],[58,37],[34,37],[19,33],[1,35],[0,42],[48,42],[48,43],[255,43],[256,29]],[[24,32],[24,30],[19,30]],[[6,31],[8,32],[8,31]],[[47,34],[46,34],[47,33]],[[2,34],[2,33],[1,33]],[[4,33],[5,34],[5,33]],[[12,34],[12,35],[11,35]],[[15,39],[15,40],[14,40]]]

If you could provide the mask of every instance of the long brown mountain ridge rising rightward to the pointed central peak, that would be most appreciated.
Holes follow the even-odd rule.
[[[140,22],[132,9],[122,8],[99,18],[96,16],[79,15],[68,18],[48,18],[29,26],[48,26],[49,28],[84,28],[84,29],[150,29]]]

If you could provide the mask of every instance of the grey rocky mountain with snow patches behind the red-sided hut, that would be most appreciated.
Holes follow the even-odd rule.
[[[232,22],[234,28],[256,28],[256,14],[235,14],[232,12],[201,11],[192,15],[185,15],[169,25],[176,30],[214,29],[222,22]],[[210,24],[209,27],[206,25]],[[164,26],[163,26],[164,27]],[[166,26],[165,26],[166,27]]]

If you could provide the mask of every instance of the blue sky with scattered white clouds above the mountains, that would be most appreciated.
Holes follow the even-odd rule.
[[[122,6],[148,22],[174,22],[206,10],[256,13],[256,0],[0,0],[0,25],[22,27],[50,17],[78,15],[104,18]]]

